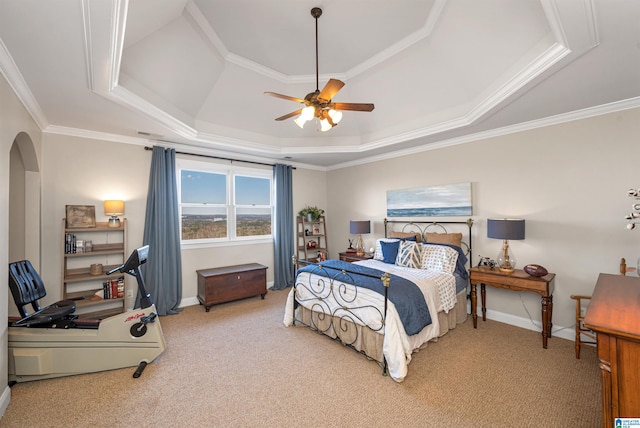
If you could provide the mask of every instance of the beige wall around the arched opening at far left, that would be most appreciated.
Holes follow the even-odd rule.
[[[25,140],[30,140],[32,150],[40,153],[40,130],[31,116],[15,96],[4,76],[0,75],[0,278],[8,278],[9,263],[9,172],[10,153],[16,137],[25,133]],[[28,137],[27,137],[28,136]],[[22,181],[22,179],[20,180]],[[29,178],[26,178],[29,181]],[[26,248],[23,246],[23,248]],[[26,251],[26,249],[24,250]],[[0,293],[0,319],[8,316],[9,292]],[[12,306],[13,301],[11,303]],[[0,324],[0,415],[6,410],[11,399],[11,390],[7,385],[7,324]]]

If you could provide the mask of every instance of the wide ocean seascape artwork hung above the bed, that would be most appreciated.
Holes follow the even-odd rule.
[[[387,191],[387,217],[470,216],[471,208],[471,183]]]

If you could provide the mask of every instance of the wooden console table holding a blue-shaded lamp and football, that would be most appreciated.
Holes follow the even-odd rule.
[[[497,288],[506,288],[513,291],[533,291],[542,296],[542,347],[547,348],[547,339],[551,337],[551,327],[553,327],[553,278],[554,273],[545,276],[531,276],[522,269],[516,269],[512,273],[502,272],[497,268],[484,266],[472,267],[469,270],[469,280],[471,282],[471,317],[473,318],[473,328],[478,328],[478,298],[476,286],[480,284],[482,294],[482,321],[487,320],[487,297],[485,285]]]

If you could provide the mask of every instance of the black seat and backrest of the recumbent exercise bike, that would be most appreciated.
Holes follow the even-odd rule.
[[[44,309],[40,307],[38,300],[46,296],[47,291],[29,260],[9,263],[9,288],[22,317],[13,323],[14,326],[53,326],[57,320],[66,318],[76,310],[72,300],[61,300]],[[28,305],[33,308],[33,313],[29,313]]]

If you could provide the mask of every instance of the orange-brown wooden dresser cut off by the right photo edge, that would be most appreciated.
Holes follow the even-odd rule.
[[[598,336],[603,426],[640,416],[640,278],[601,273],[584,319]]]

